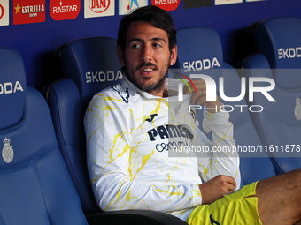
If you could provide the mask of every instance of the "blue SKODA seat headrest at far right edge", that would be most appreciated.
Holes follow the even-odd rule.
[[[295,88],[301,86],[301,19],[296,17],[277,17],[259,21],[254,25],[257,49],[266,56],[274,70],[278,86]],[[289,79],[288,79],[289,78]]]

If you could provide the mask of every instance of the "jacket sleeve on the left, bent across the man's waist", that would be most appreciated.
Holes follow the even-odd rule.
[[[96,95],[87,109],[84,124],[88,170],[98,206],[106,211],[125,209],[172,212],[201,205],[197,184],[143,185],[135,183],[129,163],[133,121],[119,102]],[[145,157],[145,158],[144,158]],[[143,156],[143,159],[149,157]],[[156,166],[156,165],[155,165]]]

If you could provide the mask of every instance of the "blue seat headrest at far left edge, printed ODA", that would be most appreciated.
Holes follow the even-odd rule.
[[[25,109],[26,72],[19,52],[0,48],[0,130],[18,124]]]

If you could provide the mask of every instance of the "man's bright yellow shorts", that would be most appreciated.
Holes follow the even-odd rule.
[[[258,213],[256,193],[257,182],[245,185],[239,191],[213,202],[197,206],[187,222],[190,225],[262,225]]]

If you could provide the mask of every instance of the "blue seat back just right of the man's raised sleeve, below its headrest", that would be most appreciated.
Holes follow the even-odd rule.
[[[241,80],[239,79],[235,69],[224,62],[224,70],[221,74],[225,78],[225,94],[227,96],[238,96],[241,91]],[[235,105],[244,106],[242,109],[236,107],[232,112],[230,112],[230,121],[234,124],[234,139],[236,146],[244,149],[247,149],[249,146],[252,147],[252,149],[259,149],[260,146],[263,146],[259,139],[259,134],[256,131],[255,126],[252,124],[250,116],[250,114],[258,113],[248,111],[246,99],[243,98],[241,101],[236,102],[223,102],[225,105],[231,105],[234,108]],[[228,110],[230,109],[228,108]],[[268,154],[244,152],[241,153],[240,156],[240,168],[243,184],[251,184],[252,182],[276,175],[274,166],[268,157]]]

